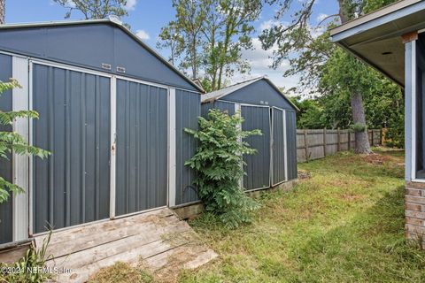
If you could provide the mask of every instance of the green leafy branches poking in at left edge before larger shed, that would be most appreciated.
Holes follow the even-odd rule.
[[[20,88],[17,80],[0,81],[0,95],[12,88]],[[11,126],[15,119],[38,119],[35,111],[0,111],[0,126]],[[0,159],[9,159],[12,152],[18,155],[27,155],[45,158],[49,152],[29,145],[19,134],[10,131],[0,131]],[[4,203],[10,193],[20,194],[23,189],[0,176],[0,203]]]

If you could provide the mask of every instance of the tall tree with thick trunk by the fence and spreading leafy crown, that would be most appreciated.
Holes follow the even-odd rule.
[[[329,34],[326,30],[394,1],[336,0],[338,4],[336,14],[321,19],[317,26],[312,27],[311,17],[316,2],[317,0],[302,2],[289,25],[282,23],[265,30],[260,35],[260,40],[265,49],[277,45],[278,50],[274,53],[274,67],[280,65],[283,60],[289,59],[291,67],[284,75],[301,73],[302,87],[314,87],[314,91],[319,91],[322,95],[339,92],[346,93],[350,97],[352,127],[356,131],[356,141],[358,141],[355,151],[371,153],[363,103],[363,96],[370,87],[368,76],[371,75],[371,69],[356,57],[352,57],[329,42]],[[276,19],[282,19],[294,5],[293,0],[267,0],[267,3],[279,5]],[[325,32],[318,35],[321,30]],[[331,80],[331,75],[336,77]]]

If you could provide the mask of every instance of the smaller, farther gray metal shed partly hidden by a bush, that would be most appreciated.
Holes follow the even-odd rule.
[[[261,130],[246,142],[257,154],[243,157],[243,187],[257,190],[297,179],[297,107],[266,77],[246,80],[201,97],[202,116],[210,109],[241,111],[243,130]]]

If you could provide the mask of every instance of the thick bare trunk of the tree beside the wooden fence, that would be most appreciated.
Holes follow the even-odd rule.
[[[369,138],[367,136],[365,109],[363,107],[363,99],[361,94],[356,91],[352,94],[352,120],[354,124],[365,126],[363,131],[356,131],[356,147],[354,148],[355,153],[359,154],[370,154]]]

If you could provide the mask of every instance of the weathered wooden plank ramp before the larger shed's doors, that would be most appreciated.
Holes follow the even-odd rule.
[[[46,237],[37,236],[36,247]],[[169,209],[52,233],[47,255],[53,256],[47,266],[60,273],[58,282],[85,282],[119,261],[143,264],[159,278],[169,277],[172,269],[197,268],[217,256]]]

